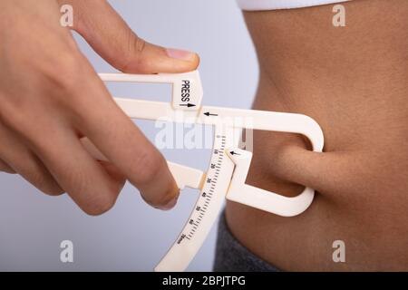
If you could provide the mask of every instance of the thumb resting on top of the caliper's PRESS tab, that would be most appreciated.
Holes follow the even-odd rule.
[[[106,1],[72,1],[79,14],[73,29],[108,63],[125,73],[184,73],[195,70],[199,56],[147,43],[131,31]],[[75,16],[75,14],[74,14]]]

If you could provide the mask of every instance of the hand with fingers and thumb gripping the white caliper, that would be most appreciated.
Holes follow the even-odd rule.
[[[60,24],[62,5],[73,6],[73,30],[122,72],[199,65],[195,53],[143,41],[106,1],[0,0],[0,171],[50,195],[67,192],[90,215],[112,208],[126,179],[152,206],[173,207],[179,189],[166,161]],[[94,159],[83,140],[110,161]]]

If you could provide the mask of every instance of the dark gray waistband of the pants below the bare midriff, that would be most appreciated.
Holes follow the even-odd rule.
[[[219,218],[216,256],[213,270],[215,272],[279,272],[260,257],[252,254],[232,236],[228,229],[223,212]]]

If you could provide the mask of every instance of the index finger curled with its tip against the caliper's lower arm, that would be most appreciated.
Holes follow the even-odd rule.
[[[91,68],[92,70],[92,68]],[[166,160],[121,111],[96,73],[77,86],[74,125],[156,208],[172,208],[179,196]],[[82,96],[82,92],[91,93]]]

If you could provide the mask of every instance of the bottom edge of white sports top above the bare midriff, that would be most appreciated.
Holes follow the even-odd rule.
[[[237,0],[242,10],[275,10],[333,4],[350,0]]]

